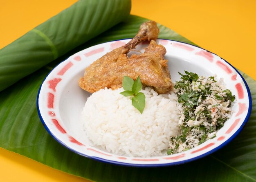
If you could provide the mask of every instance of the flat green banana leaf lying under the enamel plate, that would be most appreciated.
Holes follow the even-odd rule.
[[[130,16],[124,22],[77,47],[0,92],[0,147],[20,153],[55,169],[97,182],[254,182],[256,181],[256,81],[243,73],[252,92],[252,114],[243,131],[210,156],[186,164],[161,168],[120,167],[79,156],[57,143],[44,129],[36,110],[39,86],[48,72],[88,46],[133,37],[146,19]],[[193,44],[159,25],[159,38]]]

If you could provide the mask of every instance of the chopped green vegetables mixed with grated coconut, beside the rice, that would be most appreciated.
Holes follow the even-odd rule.
[[[185,71],[174,86],[180,107],[181,133],[172,137],[167,153],[179,153],[214,138],[232,113],[235,96],[226,89],[223,80],[202,77]]]

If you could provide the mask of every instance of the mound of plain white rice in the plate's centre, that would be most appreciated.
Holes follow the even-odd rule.
[[[117,90],[102,89],[86,101],[82,112],[85,132],[100,149],[123,156],[150,157],[166,153],[170,137],[180,134],[175,93],[158,95],[145,88],[143,114],[130,97]]]

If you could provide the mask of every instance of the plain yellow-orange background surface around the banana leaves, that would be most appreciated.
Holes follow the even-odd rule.
[[[74,2],[2,0],[0,48]],[[132,0],[131,14],[173,29],[256,79],[255,9],[255,0]],[[0,168],[1,181],[87,181],[4,149],[0,149]]]

